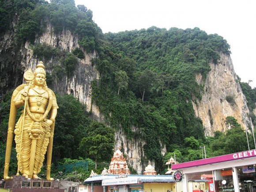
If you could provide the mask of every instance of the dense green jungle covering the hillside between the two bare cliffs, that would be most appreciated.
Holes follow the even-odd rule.
[[[160,142],[171,151],[173,144],[184,147],[184,139],[191,136],[205,141],[191,103],[200,99],[204,85],[195,79],[199,73],[206,77],[210,62],[218,64],[218,53],[230,54],[226,40],[199,28],[154,26],[105,37],[112,46],[100,49],[93,61],[101,79],[92,86],[94,102],[107,122],[116,129],[121,125],[129,138],[144,139],[145,159],[156,162],[162,162]],[[124,90],[117,84],[120,71],[128,76]]]

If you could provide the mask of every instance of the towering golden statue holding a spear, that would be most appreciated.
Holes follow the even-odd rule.
[[[53,181],[50,172],[58,105],[55,94],[46,86],[44,68],[43,62],[40,61],[34,74],[31,69],[26,71],[26,84],[17,87],[12,94],[4,165],[5,180],[10,179],[8,170],[14,132],[18,159],[17,175],[20,172],[26,178],[40,179],[38,173],[41,171],[47,151],[46,179]],[[15,124],[17,109],[23,105],[22,115]]]

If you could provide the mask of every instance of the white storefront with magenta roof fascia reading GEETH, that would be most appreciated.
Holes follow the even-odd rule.
[[[203,192],[256,192],[256,150],[184,162],[172,166],[183,174],[183,192],[193,192],[189,181],[212,174],[209,190]]]

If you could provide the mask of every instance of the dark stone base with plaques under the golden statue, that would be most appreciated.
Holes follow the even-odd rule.
[[[60,181],[27,179],[25,176],[13,176],[4,182],[4,188],[12,189],[12,192],[64,192],[60,189]]]

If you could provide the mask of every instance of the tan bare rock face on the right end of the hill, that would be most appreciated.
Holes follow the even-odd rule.
[[[220,56],[218,64],[210,64],[211,71],[207,75],[201,101],[192,101],[196,116],[202,119],[207,136],[213,136],[215,131],[226,131],[227,116],[235,117],[243,128],[249,122],[249,109],[232,60],[226,54],[220,53]],[[196,81],[202,84],[202,75],[197,75]]]

